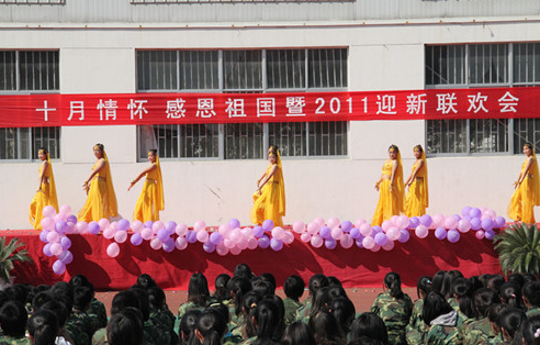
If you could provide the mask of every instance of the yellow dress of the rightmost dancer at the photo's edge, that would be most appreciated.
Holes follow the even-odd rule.
[[[527,166],[527,159],[521,166],[524,174]],[[515,221],[521,221],[527,224],[536,223],[535,205],[540,204],[540,192],[538,183],[538,163],[536,156],[519,187],[514,191],[507,211],[508,216]]]

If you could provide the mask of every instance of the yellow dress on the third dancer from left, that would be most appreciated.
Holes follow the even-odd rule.
[[[159,160],[156,160],[156,169],[146,174],[145,185],[133,212],[133,219],[143,223],[159,221],[159,211],[164,210],[164,188]]]

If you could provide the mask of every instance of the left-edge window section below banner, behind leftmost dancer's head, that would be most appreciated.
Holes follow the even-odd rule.
[[[0,129],[0,159],[37,159],[40,147],[60,158],[60,127]]]

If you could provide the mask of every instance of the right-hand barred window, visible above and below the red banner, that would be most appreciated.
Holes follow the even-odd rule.
[[[540,82],[539,43],[426,46],[425,57],[427,88],[517,87]],[[426,152],[517,154],[526,141],[538,142],[537,129],[536,119],[427,120]]]

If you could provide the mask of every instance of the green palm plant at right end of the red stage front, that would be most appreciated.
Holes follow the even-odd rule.
[[[540,231],[536,224],[506,227],[495,236],[494,243],[505,274],[540,274]]]

